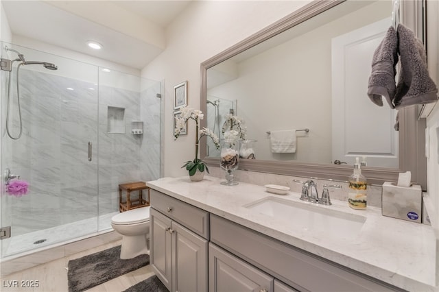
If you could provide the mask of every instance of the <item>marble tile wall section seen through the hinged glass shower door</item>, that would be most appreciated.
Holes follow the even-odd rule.
[[[2,145],[3,167],[29,182],[27,195],[8,196],[14,234],[96,215],[97,160],[88,162],[86,147],[88,141],[97,145],[97,90],[91,87],[88,82],[21,69],[23,134]]]

